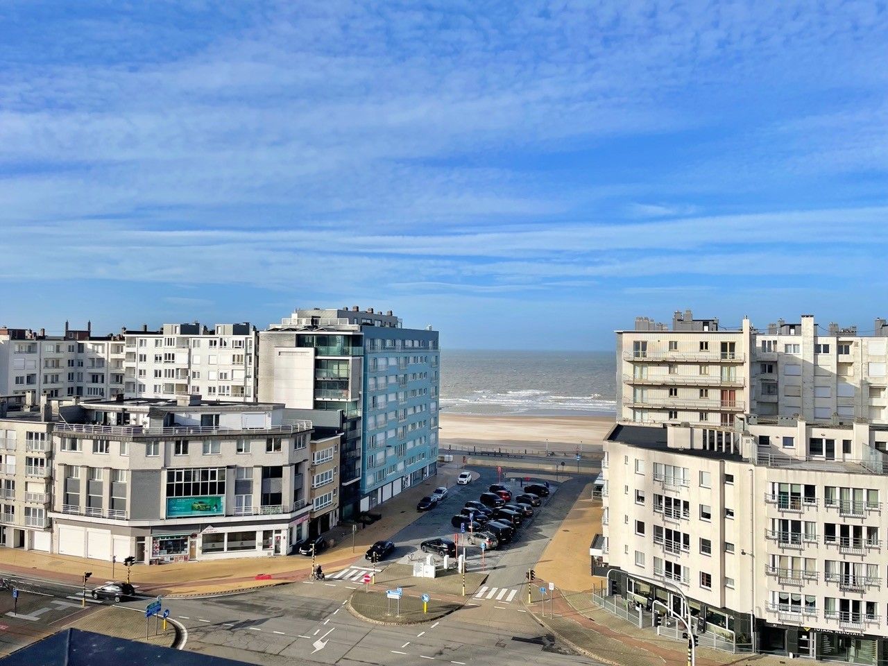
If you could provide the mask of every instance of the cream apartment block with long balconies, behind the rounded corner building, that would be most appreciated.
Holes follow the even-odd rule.
[[[686,311],[675,313],[671,328],[639,317],[616,339],[621,422],[730,425],[757,414],[888,424],[883,319],[860,336],[836,323],[821,327],[811,315],[724,329]]]

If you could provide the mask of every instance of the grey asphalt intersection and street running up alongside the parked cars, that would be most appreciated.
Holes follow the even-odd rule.
[[[438,508],[394,535],[398,550],[377,567],[406,559],[424,539],[453,538],[453,514],[496,482],[496,470],[476,471],[480,480],[452,488]],[[539,559],[585,483],[581,479],[562,484],[519,529],[515,542],[485,558],[489,575],[483,593],[437,622],[380,626],[358,620],[345,608],[345,601],[360,583],[334,577],[337,571],[327,572],[324,582],[293,583],[216,599],[170,599],[164,606],[186,627],[187,650],[244,662],[281,666],[289,666],[294,659],[342,666],[400,666],[420,659],[456,666],[595,663],[547,636],[519,603],[527,594],[527,567]],[[359,567],[369,567],[362,553],[358,555],[353,566],[346,567],[355,575],[361,572]],[[480,568],[480,551],[469,549],[468,555],[470,570]]]

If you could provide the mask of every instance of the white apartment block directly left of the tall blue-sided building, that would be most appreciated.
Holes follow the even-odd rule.
[[[125,394],[129,398],[202,395],[256,401],[257,330],[249,322],[163,324],[124,331]]]

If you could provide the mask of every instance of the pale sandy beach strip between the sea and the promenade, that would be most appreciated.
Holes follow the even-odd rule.
[[[470,416],[440,413],[441,448],[478,447],[541,450],[601,450],[601,440],[614,425],[613,416]],[[582,442],[582,445],[581,445]]]

